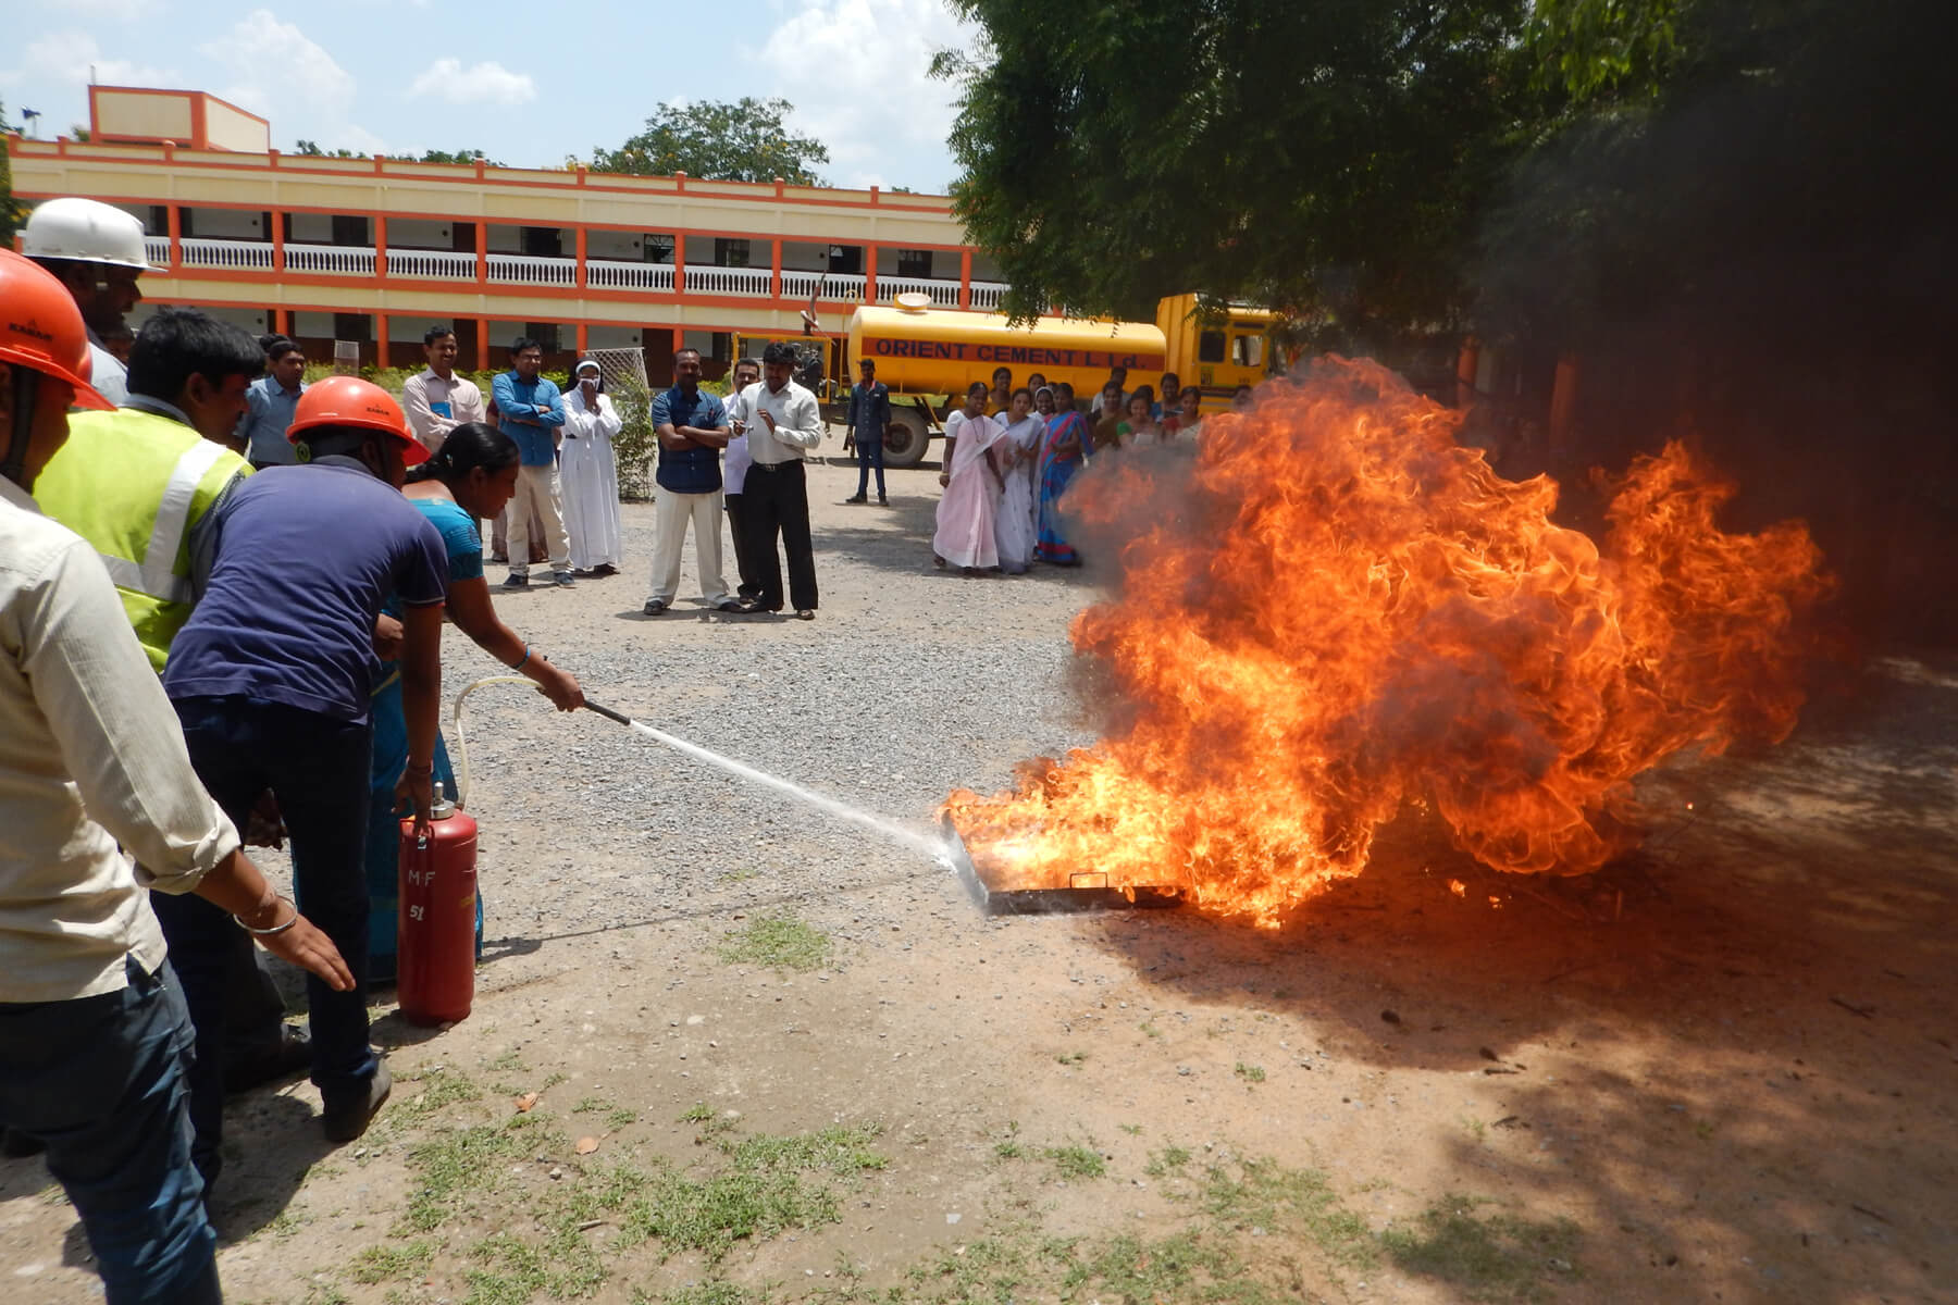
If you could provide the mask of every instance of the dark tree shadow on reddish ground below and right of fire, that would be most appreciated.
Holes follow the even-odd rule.
[[[1443,1143],[1459,1182],[1578,1215],[1645,1299],[1952,1299],[1954,667],[1872,663],[1790,743],[1651,777],[1645,849],[1592,877],[1494,875],[1408,818],[1279,931],[1095,931],[1167,1000],[1500,1084]]]

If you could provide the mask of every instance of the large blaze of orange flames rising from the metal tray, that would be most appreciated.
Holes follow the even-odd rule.
[[[1124,452],[1069,495],[1120,550],[1071,636],[1122,724],[948,798],[997,886],[1095,871],[1273,923],[1404,802],[1488,867],[1580,875],[1635,837],[1635,775],[1794,728],[1821,556],[1799,522],[1721,530],[1733,487],[1684,446],[1615,485],[1600,552],[1380,366],[1267,389],[1194,460]]]

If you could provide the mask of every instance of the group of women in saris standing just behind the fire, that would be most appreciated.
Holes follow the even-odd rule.
[[[867,382],[873,364],[862,366]],[[1079,565],[1061,499],[1081,468],[1122,448],[1194,440],[1202,423],[1202,389],[1179,385],[1175,372],[1163,374],[1161,399],[1126,382],[1126,368],[1114,368],[1087,413],[1071,383],[1048,385],[1038,372],[1018,389],[1008,368],[995,370],[991,385],[973,382],[946,419],[932,562],[967,575],[1020,575],[1034,562]],[[1249,401],[1251,387],[1239,385],[1232,407],[1243,411]]]

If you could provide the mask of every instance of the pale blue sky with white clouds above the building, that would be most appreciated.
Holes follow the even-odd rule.
[[[658,104],[781,96],[840,186],[942,192],[952,88],[932,53],[973,41],[944,0],[570,6],[488,0],[61,0],[14,6],[0,53],[10,121],[88,121],[88,80],[208,90],[272,121],[272,145],[482,149],[558,166],[640,129]],[[540,20],[548,16],[550,25]],[[734,22],[724,22],[728,18]]]

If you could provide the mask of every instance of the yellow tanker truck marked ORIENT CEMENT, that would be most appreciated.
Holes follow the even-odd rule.
[[[1204,407],[1222,407],[1237,385],[1255,385],[1275,370],[1273,313],[1230,307],[1198,317],[1196,295],[1163,299],[1155,323],[1040,317],[1008,327],[999,313],[924,307],[924,295],[899,295],[897,307],[860,307],[840,335],[783,337],[805,350],[801,380],[815,382],[824,421],[848,415],[856,364],[869,358],[891,387],[891,428],[883,460],[895,468],[924,460],[942,419],[973,382],[1008,368],[1012,383],[1040,372],[1067,382],[1089,403],[1112,368],[1128,368],[1128,387],[1151,385],[1161,397],[1165,372],[1200,385]],[[768,337],[740,337],[736,354],[760,354]],[[809,354],[816,356],[809,356]]]

